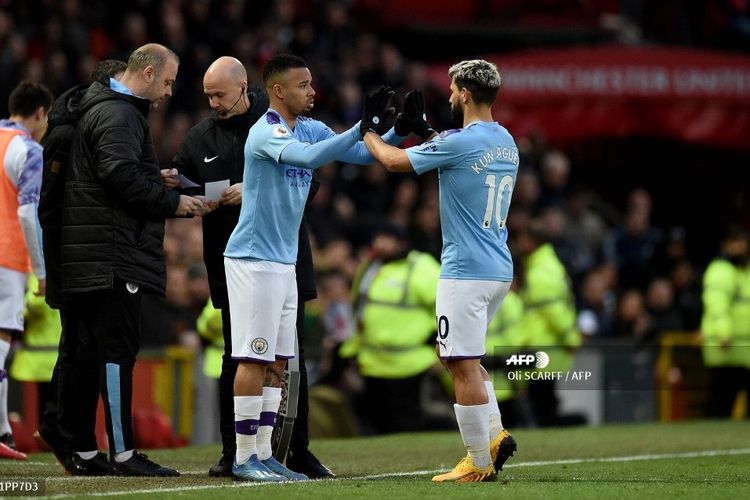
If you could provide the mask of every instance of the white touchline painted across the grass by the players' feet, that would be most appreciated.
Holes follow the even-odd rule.
[[[505,464],[503,469],[511,467],[541,467],[545,465],[571,465],[571,464],[585,464],[585,463],[597,463],[597,462],[637,462],[641,460],[664,460],[670,458],[698,458],[698,457],[723,457],[730,455],[750,455],[750,448],[737,448],[732,450],[705,450],[705,451],[687,451],[682,453],[660,453],[660,454],[649,454],[649,455],[630,455],[624,457],[599,457],[599,458],[569,458],[562,460],[540,460],[534,462],[519,462]],[[355,481],[363,481],[370,479],[387,479],[390,477],[408,477],[408,476],[422,476],[427,474],[437,474],[445,472],[444,469],[437,470],[418,470],[410,472],[386,472],[383,474],[368,474],[366,476],[354,476],[354,477],[341,477],[340,479],[348,479]],[[183,475],[197,475],[204,474],[203,472],[187,472]],[[87,479],[79,476],[76,479]],[[101,480],[101,477],[92,478],[95,480]],[[575,479],[575,478],[574,478]],[[50,482],[64,482],[68,481],[69,478],[55,477],[49,478]],[[316,482],[329,482],[336,481],[336,479],[318,479]],[[216,484],[202,484],[195,486],[177,486],[174,488],[152,488],[142,490],[124,490],[124,491],[109,491],[109,492],[97,492],[97,493],[86,493],[86,496],[92,497],[108,497],[108,496],[122,496],[122,495],[150,495],[150,494],[161,494],[161,493],[177,493],[180,491],[200,491],[217,488],[252,488],[257,486],[268,486],[270,484],[295,484],[294,481],[285,483],[253,483],[253,482],[237,482],[237,483],[216,483]],[[68,498],[73,496],[81,496],[80,493],[75,494],[59,494],[50,495],[45,498]]]

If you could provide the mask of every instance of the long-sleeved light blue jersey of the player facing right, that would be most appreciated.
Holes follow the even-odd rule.
[[[334,160],[374,161],[358,127],[337,135],[324,123],[300,116],[292,130],[269,109],[247,135],[242,208],[224,255],[294,264],[313,170]],[[401,138],[391,130],[383,139]]]

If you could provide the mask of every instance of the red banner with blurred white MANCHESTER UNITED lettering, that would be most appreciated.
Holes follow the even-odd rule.
[[[495,116],[553,142],[662,137],[750,149],[750,57],[664,47],[584,47],[487,57],[503,78]],[[447,65],[430,68],[445,84]]]

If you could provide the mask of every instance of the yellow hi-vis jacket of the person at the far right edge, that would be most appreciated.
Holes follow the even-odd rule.
[[[706,366],[750,368],[750,266],[716,259],[706,268],[701,332]]]

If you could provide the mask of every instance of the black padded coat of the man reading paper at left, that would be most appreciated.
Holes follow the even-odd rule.
[[[150,106],[98,82],[81,99],[63,204],[66,293],[111,289],[117,276],[164,294],[164,219],[180,195],[162,183]]]

